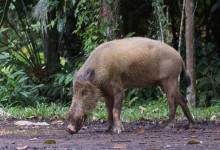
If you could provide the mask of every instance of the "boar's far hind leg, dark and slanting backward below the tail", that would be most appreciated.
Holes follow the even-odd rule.
[[[177,91],[177,102],[181,106],[183,113],[185,114],[188,122],[189,122],[189,127],[192,128],[193,126],[193,117],[189,111],[189,108],[187,106],[187,101],[186,99],[180,94],[180,91]]]

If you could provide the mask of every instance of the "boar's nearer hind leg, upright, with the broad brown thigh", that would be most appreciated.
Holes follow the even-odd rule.
[[[176,102],[176,91],[177,91],[177,80],[175,79],[168,79],[162,81],[162,89],[166,93],[167,101],[169,105],[169,124],[167,127],[174,127],[175,125],[175,114],[177,108]]]

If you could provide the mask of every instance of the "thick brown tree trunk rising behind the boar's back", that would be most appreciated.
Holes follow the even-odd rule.
[[[102,0],[101,1],[101,24],[100,28],[104,32],[102,33],[105,38],[108,40],[118,39],[120,38],[120,18],[119,18],[119,8],[120,8],[120,1],[108,1]]]

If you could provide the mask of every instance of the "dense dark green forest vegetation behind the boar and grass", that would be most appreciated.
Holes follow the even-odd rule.
[[[192,52],[196,106],[219,105],[219,16],[220,0],[0,1],[0,107],[70,102],[74,71],[90,52],[131,36],[162,40],[184,59]],[[161,96],[157,88],[126,95],[129,105]]]

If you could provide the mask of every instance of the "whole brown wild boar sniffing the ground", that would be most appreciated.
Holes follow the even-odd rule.
[[[124,131],[120,112],[125,88],[160,86],[169,104],[169,127],[175,123],[179,104],[193,124],[187,101],[181,95],[178,76],[185,74],[179,53],[169,45],[141,37],[113,40],[98,46],[75,74],[72,104],[67,114],[67,132],[77,133],[88,114],[95,108],[98,98],[104,97],[108,112],[108,129],[115,133]]]

